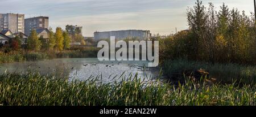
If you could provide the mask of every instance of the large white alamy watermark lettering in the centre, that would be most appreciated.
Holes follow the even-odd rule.
[[[141,46],[141,49],[140,49],[140,46]],[[114,36],[110,37],[110,46],[107,41],[99,41],[97,47],[102,47],[102,49],[98,51],[98,55],[97,55],[98,60],[100,61],[104,61],[104,60],[106,61],[107,60],[146,61],[148,60],[150,61],[148,63],[148,67],[156,67],[158,66],[158,63],[159,63],[159,42],[158,41],[154,41],[154,51],[152,50],[152,41],[129,41],[129,44],[127,47],[127,44],[125,41],[117,41],[115,44]],[[115,51],[116,47],[120,49]],[[129,54],[128,57],[127,57],[127,54]]]

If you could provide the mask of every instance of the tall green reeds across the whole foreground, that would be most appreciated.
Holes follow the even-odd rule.
[[[37,73],[0,76],[0,105],[256,105],[255,85],[148,84],[138,77],[102,84]]]

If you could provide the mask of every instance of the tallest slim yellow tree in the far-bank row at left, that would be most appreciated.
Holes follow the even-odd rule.
[[[57,50],[62,51],[63,50],[63,32],[61,30],[60,27],[56,28],[56,32],[55,32],[55,39],[56,39],[56,48]]]

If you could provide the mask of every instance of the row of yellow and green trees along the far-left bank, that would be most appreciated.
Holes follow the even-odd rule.
[[[30,33],[30,36],[28,36],[27,38],[27,44],[21,44],[20,40],[22,40],[23,37],[22,35],[19,35],[15,38],[11,38],[8,46],[3,46],[3,44],[0,44],[0,51],[3,50],[6,53],[12,50],[22,51],[24,49],[30,51],[63,51],[71,49],[72,42],[79,42],[81,45],[86,45],[84,37],[82,37],[80,32],[69,33],[68,31],[68,29],[64,31],[60,27],[57,27],[56,32],[54,33],[52,31],[52,28],[50,28],[48,32],[48,37],[38,37],[38,33],[36,32],[36,30],[33,29]],[[92,40],[88,39],[87,41],[91,42]]]

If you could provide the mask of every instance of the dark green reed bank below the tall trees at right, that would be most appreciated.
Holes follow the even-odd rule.
[[[163,63],[164,75],[174,80],[183,79],[183,73],[191,73],[200,68],[209,72],[210,78],[217,79],[217,81],[222,81],[223,83],[232,83],[234,81],[240,81],[243,84],[256,83],[256,66],[233,63],[211,64],[186,59],[166,60]]]

